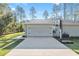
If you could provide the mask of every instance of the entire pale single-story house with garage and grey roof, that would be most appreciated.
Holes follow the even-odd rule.
[[[27,36],[59,36],[59,21],[56,20],[29,20],[24,23]],[[55,33],[54,30],[56,30]],[[63,21],[63,32],[70,36],[79,36],[79,23]]]

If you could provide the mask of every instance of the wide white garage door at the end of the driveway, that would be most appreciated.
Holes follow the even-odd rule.
[[[28,25],[27,36],[52,36],[52,25]]]

